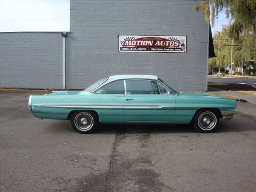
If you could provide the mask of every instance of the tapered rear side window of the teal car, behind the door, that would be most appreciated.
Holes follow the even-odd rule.
[[[124,94],[124,80],[114,81],[101,87],[97,94]]]

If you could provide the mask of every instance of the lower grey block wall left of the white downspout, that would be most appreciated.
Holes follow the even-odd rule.
[[[0,33],[0,87],[61,88],[60,33]]]

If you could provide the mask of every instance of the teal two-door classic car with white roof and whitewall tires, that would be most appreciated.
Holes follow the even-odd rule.
[[[104,77],[83,91],[30,95],[28,108],[39,118],[70,120],[79,133],[102,124],[189,124],[199,132],[230,121],[237,102],[214,94],[178,92],[154,75]]]

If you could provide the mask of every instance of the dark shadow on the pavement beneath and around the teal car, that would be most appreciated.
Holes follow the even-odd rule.
[[[222,122],[220,119],[218,130],[214,133],[256,131],[254,127],[255,119],[241,114],[237,117],[232,119],[231,122]],[[55,121],[51,123],[51,126],[47,127],[47,130],[54,133],[76,132],[69,121]],[[197,131],[191,124],[99,124],[94,134],[115,133],[197,133]]]

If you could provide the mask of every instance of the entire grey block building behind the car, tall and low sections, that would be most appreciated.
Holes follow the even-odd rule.
[[[67,34],[0,33],[0,87],[83,89],[109,75],[148,74],[159,76],[177,90],[205,91],[213,46],[209,46],[210,27],[204,15],[193,10],[195,3],[70,0]],[[185,43],[179,42],[179,47],[186,49],[119,52],[121,38],[139,36],[144,40],[166,36],[170,41],[178,41],[174,36],[181,36]]]

